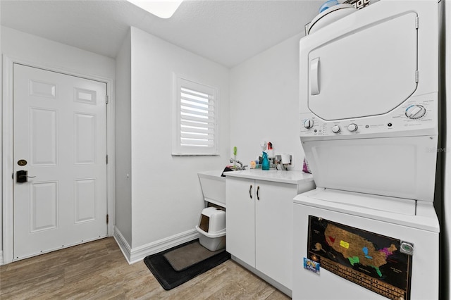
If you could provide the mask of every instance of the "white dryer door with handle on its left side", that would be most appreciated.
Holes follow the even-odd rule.
[[[412,95],[416,16],[409,12],[381,20],[310,51],[311,112],[324,120],[381,115]]]

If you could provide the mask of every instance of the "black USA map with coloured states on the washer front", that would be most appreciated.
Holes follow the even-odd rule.
[[[338,275],[388,299],[410,300],[412,255],[402,241],[362,228],[309,215],[304,268]],[[412,246],[413,249],[413,246]]]

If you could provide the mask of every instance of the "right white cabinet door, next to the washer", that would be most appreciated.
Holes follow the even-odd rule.
[[[297,185],[258,180],[256,185],[256,268],[292,289],[292,199]]]

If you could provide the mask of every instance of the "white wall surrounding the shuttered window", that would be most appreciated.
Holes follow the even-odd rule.
[[[134,27],[131,45],[131,246],[137,249],[199,222],[204,201],[197,172],[222,169],[230,153],[229,70]],[[173,73],[218,87],[220,156],[171,156]]]

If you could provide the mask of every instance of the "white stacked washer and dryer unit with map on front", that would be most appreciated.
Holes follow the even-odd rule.
[[[437,1],[381,0],[300,41],[293,299],[438,299]]]

